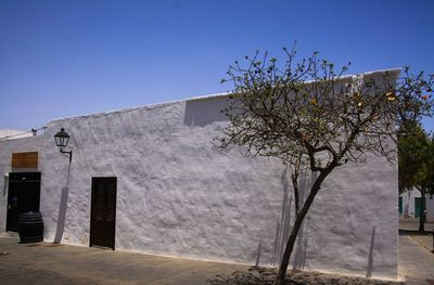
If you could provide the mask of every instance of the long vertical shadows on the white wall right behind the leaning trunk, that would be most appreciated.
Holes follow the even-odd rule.
[[[310,176],[310,182],[307,181],[308,174],[305,172],[301,176],[299,180],[299,200],[301,206],[303,206],[303,202],[307,196],[307,192],[310,189],[310,184],[315,181],[316,176],[312,173]],[[276,236],[273,250],[271,256],[272,265],[279,265],[283,251],[286,247],[286,242],[291,233],[292,224],[291,224],[291,215],[295,209],[292,207],[293,195],[290,196],[290,191],[292,191],[292,185],[290,185],[290,180],[288,179],[288,171],[283,170],[281,176],[281,182],[283,185],[283,200],[282,200],[282,212],[280,221],[277,222],[276,226]],[[295,202],[294,202],[295,203]],[[307,216],[298,231],[294,258],[293,258],[293,268],[294,269],[304,269],[306,263],[306,255],[307,255],[307,246],[308,246],[308,225],[309,225],[309,216]]]

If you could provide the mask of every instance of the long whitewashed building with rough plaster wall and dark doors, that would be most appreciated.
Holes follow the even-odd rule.
[[[226,101],[58,119],[42,135],[1,141],[0,230],[15,230],[12,208],[26,202],[43,216],[46,242],[278,264],[294,221],[291,182],[279,160],[213,146],[227,124]],[[61,128],[71,135],[71,164],[54,144]],[[310,179],[303,178],[302,195]],[[397,197],[397,166],[382,157],[336,169],[304,221],[292,264],[396,278]]]

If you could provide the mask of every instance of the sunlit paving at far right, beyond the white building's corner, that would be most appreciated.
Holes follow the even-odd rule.
[[[434,285],[434,254],[409,235],[399,235],[399,277],[408,285]]]

